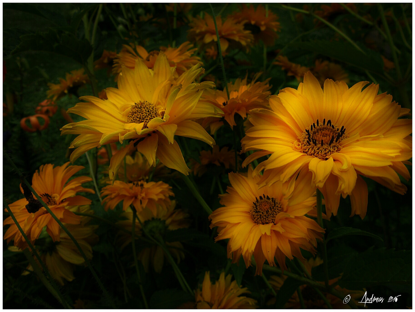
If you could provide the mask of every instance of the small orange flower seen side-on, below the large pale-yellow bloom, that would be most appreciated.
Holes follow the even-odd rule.
[[[111,182],[107,182],[111,184]],[[122,201],[122,210],[127,210],[133,205],[137,211],[141,211],[144,207],[148,207],[156,211],[156,204],[167,208],[170,205],[169,196],[174,196],[171,186],[158,182],[135,181],[125,183],[123,181],[115,181],[113,185],[107,185],[101,192],[103,203],[105,203],[105,211],[114,209],[117,204]]]

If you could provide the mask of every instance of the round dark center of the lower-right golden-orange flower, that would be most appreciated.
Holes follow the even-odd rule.
[[[259,199],[256,198],[253,204],[254,206],[249,213],[256,224],[274,223],[275,217],[283,211],[279,201],[268,195],[265,196],[265,194],[259,196]]]

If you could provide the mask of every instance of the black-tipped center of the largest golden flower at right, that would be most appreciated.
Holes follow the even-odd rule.
[[[317,125],[316,125],[317,123]],[[344,134],[346,128],[342,126],[340,129],[336,125],[332,125],[329,119],[323,119],[323,123],[312,123],[310,128],[305,129],[300,138],[301,150],[304,154],[327,160],[332,153],[339,152],[342,147],[340,142],[347,138]]]

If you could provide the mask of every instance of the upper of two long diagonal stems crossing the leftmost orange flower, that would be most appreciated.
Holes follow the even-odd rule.
[[[38,193],[36,193],[36,191],[32,188],[32,186],[29,184],[29,182],[27,182],[26,178],[20,172],[19,168],[16,167],[15,163],[10,159],[10,156],[7,155],[7,153],[4,150],[3,150],[3,155],[6,157],[7,161],[10,162],[10,164],[12,165],[12,167],[16,170],[16,172],[19,175],[19,177],[24,181],[24,184],[27,185],[27,187],[30,189],[30,191],[32,191],[32,193],[34,194],[34,196],[40,201],[40,203],[46,209],[46,211],[51,215],[52,218],[54,218],[54,220],[59,224],[59,226],[62,228],[62,230],[73,241],[73,243],[75,244],[76,248],[81,253],[81,256],[85,260],[85,264],[88,266],[88,268],[90,269],[92,275],[94,276],[95,280],[97,281],[98,285],[100,286],[101,290],[103,291],[103,293],[104,293],[105,297],[107,298],[108,302],[110,303],[110,305],[114,309],[116,309],[117,307],[115,306],[114,302],[112,301],[112,298],[108,294],[107,290],[104,288],[104,285],[101,283],[100,279],[98,278],[97,273],[95,272],[94,268],[91,266],[90,261],[86,257],[85,253],[83,252],[83,250],[82,250],[81,246],[79,245],[79,243],[76,241],[75,237],[73,237],[73,235],[71,234],[71,232],[69,232],[68,229],[62,224],[61,220],[59,220],[59,218],[56,217],[56,215],[53,213],[53,211],[50,210],[50,208],[44,203],[43,199],[39,196]]]

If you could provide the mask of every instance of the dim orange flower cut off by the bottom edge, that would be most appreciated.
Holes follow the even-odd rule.
[[[249,294],[248,288],[238,286],[236,281],[231,282],[232,275],[220,273],[219,280],[213,285],[210,281],[210,272],[205,272],[202,289],[196,289],[197,309],[255,309],[256,300],[241,296]]]

